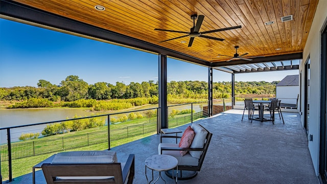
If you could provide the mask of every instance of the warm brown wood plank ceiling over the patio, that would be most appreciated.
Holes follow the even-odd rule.
[[[317,0],[15,1],[208,62],[228,60],[217,56],[233,56],[235,45],[239,45],[240,55],[248,53],[253,57],[302,52],[318,4]],[[96,10],[97,5],[105,10]],[[196,37],[192,47],[188,47],[189,36],[159,42],[185,34],[155,28],[189,32],[193,27],[192,14],[205,16],[200,32],[242,28],[206,34],[224,41]],[[282,22],[281,17],[287,15],[293,15],[293,20]],[[274,24],[265,25],[268,21]]]

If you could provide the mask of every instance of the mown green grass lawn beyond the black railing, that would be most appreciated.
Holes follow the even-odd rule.
[[[200,113],[201,115],[201,113]],[[193,116],[193,120],[201,116]],[[169,128],[191,122],[190,114],[169,118]],[[129,120],[112,124],[110,128],[110,147],[123,145],[157,133],[157,118]],[[87,141],[86,141],[87,140]],[[19,146],[23,145],[24,146]],[[6,145],[2,145],[4,147]],[[32,167],[45,158],[62,151],[106,150],[108,149],[108,126],[85,129],[76,132],[46,136],[37,140],[12,143],[13,178],[32,172]],[[6,160],[7,148],[1,149],[1,160]],[[32,155],[32,156],[29,156]],[[35,156],[33,156],[35,155]],[[16,156],[16,159],[15,159]],[[17,157],[21,158],[17,158]],[[8,161],[1,162],[3,180],[8,180]]]

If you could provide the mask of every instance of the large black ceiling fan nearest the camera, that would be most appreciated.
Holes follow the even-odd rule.
[[[189,46],[188,47],[191,47],[192,46],[192,43],[193,43],[193,40],[194,40],[195,37],[202,37],[202,38],[209,38],[209,39],[223,41],[225,39],[215,38],[215,37],[212,37],[212,36],[205,36],[204,34],[214,33],[214,32],[219,32],[219,31],[226,31],[226,30],[237,29],[237,28],[242,28],[242,26],[234,26],[234,27],[229,27],[229,28],[222,28],[222,29],[217,29],[217,30],[199,32],[200,31],[200,27],[202,25],[202,21],[204,19],[204,15],[199,15],[198,16],[197,14],[194,14],[194,15],[191,15],[191,19],[193,19],[193,27],[191,28],[190,32],[174,31],[174,30],[164,30],[164,29],[154,29],[154,30],[156,30],[156,31],[168,31],[168,32],[175,32],[175,33],[185,33],[187,35],[179,36],[179,37],[176,37],[176,38],[167,39],[167,40],[160,41],[160,42],[165,42],[165,41],[170,41],[170,40],[174,40],[174,39],[178,39],[178,38],[190,36],[191,38],[190,38]],[[195,19],[198,19],[196,21],[196,24],[195,24]]]

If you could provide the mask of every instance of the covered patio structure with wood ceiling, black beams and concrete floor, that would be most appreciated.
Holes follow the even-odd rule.
[[[275,1],[275,4],[250,0],[226,0],[222,3],[195,1],[196,4],[185,1],[185,5],[179,1],[175,1],[176,5],[169,1],[159,1],[157,4],[151,1],[139,1],[138,4],[131,1],[119,1],[118,4],[111,1],[49,2],[1,0],[1,17],[158,54],[161,108],[158,129],[168,127],[167,57],[208,67],[208,106],[213,105],[213,69],[231,73],[233,82],[236,73],[264,72],[267,68],[270,71],[278,70],[278,66],[269,63],[299,59],[297,66],[291,62],[288,67],[281,62],[281,70],[296,68],[300,76],[303,75],[299,79],[303,84],[300,89],[300,113],[283,113],[285,125],[278,118],[275,125],[271,122],[241,122],[243,110],[237,109],[196,122],[211,131],[213,139],[198,176],[179,183],[319,183],[317,176],[322,178],[321,183],[325,183],[326,120],[323,114],[326,109],[326,74],[323,71],[326,71],[326,49],[325,44],[321,44],[322,49],[318,44],[327,34],[323,8],[325,1]],[[106,11],[97,9],[99,5]],[[176,8],[180,6],[183,8]],[[270,11],[272,7],[275,7],[275,12]],[[200,31],[238,25],[242,29],[212,34],[215,38],[226,39],[225,42],[196,38],[192,47],[187,47],[189,39],[176,39],[180,35],[174,32],[155,30],[189,30],[192,27],[190,15],[193,14],[205,15]],[[283,17],[290,15],[294,16],[294,20],[284,22]],[[193,33],[190,35],[194,36]],[[175,41],[167,41],[172,38]],[[193,42],[192,39],[194,37],[189,42]],[[321,42],[325,43],[326,40]],[[248,60],[238,57],[237,52],[232,57],[235,52],[233,48],[237,45],[240,45],[241,56],[248,54]],[[223,55],[228,58],[217,59]],[[256,63],[260,63],[259,66],[254,66]],[[310,94],[307,93],[308,79],[312,81],[311,88],[317,89]],[[234,89],[232,97],[235,97],[233,93]],[[306,114],[309,99],[312,104],[317,104],[310,106],[310,123]],[[208,114],[212,115],[212,109],[208,109]],[[311,137],[309,144],[306,131]],[[159,135],[153,135],[112,148],[118,153],[119,162],[124,162],[129,153],[135,154],[134,183],[146,183],[144,161],[148,156],[157,154],[159,140]],[[36,176],[37,183],[44,183],[41,171]],[[14,178],[10,183],[31,183],[31,180],[32,174],[27,174]]]

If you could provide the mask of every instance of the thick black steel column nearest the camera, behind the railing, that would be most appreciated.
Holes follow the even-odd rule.
[[[158,130],[168,128],[168,112],[167,112],[167,56],[158,55],[158,77],[159,77],[159,112],[158,112]]]

